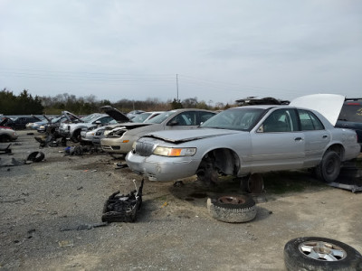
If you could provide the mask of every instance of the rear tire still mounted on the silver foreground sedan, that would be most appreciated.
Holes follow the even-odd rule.
[[[334,151],[327,151],[316,167],[317,177],[324,182],[334,182],[340,172],[340,157]]]

